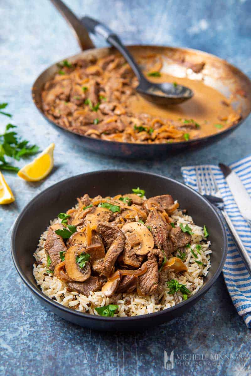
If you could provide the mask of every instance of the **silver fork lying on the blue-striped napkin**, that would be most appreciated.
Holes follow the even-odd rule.
[[[204,167],[204,170],[203,168]],[[230,217],[224,209],[224,201],[221,199],[221,194],[218,189],[217,182],[214,178],[214,174],[210,166],[196,166],[196,182],[198,186],[199,193],[204,195],[216,208],[221,212],[224,217],[228,229],[233,237],[234,243],[236,244],[237,249],[239,250],[240,256],[243,259],[243,262],[246,265],[246,268],[251,275],[251,258],[246,251],[242,240],[239,237]]]

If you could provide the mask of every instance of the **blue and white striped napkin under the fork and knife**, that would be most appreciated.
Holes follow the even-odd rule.
[[[209,165],[201,166],[203,170],[208,169]],[[251,227],[240,215],[239,209],[234,201],[227,182],[218,166],[210,165],[214,174],[218,189],[225,203],[225,210],[231,218],[234,227],[251,256]],[[251,155],[234,162],[230,165],[242,180],[243,185],[251,196]],[[196,184],[195,167],[182,167],[184,181],[191,188],[198,191]],[[242,261],[233,239],[228,232],[228,252],[227,259],[223,268],[223,275],[227,285],[228,292],[233,300],[234,306],[240,316],[243,317],[247,327],[251,328],[251,276],[249,275],[244,262]]]

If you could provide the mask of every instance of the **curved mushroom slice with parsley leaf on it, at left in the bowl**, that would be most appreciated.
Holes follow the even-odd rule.
[[[76,262],[76,256],[80,255],[82,252],[85,252],[85,249],[75,244],[67,250],[64,257],[65,269],[68,276],[77,282],[84,282],[91,275],[90,262],[86,262],[84,268],[80,268]]]

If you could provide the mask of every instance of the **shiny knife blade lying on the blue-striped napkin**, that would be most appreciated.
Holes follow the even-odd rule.
[[[246,220],[251,221],[251,198],[246,191],[245,186],[242,184],[239,176],[231,170],[230,167],[219,163],[219,167],[228,183],[231,193],[234,196],[234,200],[240,210],[240,214]]]

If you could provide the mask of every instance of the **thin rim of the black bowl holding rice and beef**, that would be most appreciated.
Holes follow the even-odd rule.
[[[19,224],[20,224],[20,222],[22,220],[22,217],[29,210],[29,207],[30,207],[30,205],[32,205],[32,202],[34,200],[39,199],[44,194],[48,193],[50,190],[54,190],[57,185],[62,184],[62,183],[66,183],[66,182],[70,182],[73,178],[80,177],[80,176],[83,176],[83,177],[85,177],[85,176],[91,176],[93,174],[99,174],[99,173],[117,173],[117,172],[122,172],[122,173],[138,173],[138,174],[143,173],[143,174],[147,174],[147,175],[151,175],[151,176],[160,177],[162,179],[164,178],[164,179],[169,180],[169,181],[171,181],[171,182],[173,182],[173,183],[175,183],[177,185],[183,186],[189,192],[191,192],[192,194],[195,194],[197,197],[199,197],[199,199],[201,199],[202,201],[204,201],[204,203],[206,205],[210,206],[211,210],[214,212],[214,214],[216,215],[216,217],[217,217],[217,219],[219,221],[219,224],[221,226],[221,232],[222,232],[222,235],[223,235],[224,246],[223,246],[222,258],[221,258],[221,261],[220,261],[220,263],[218,265],[218,268],[217,268],[216,272],[211,277],[211,279],[208,281],[208,283],[206,285],[202,286],[202,288],[200,288],[197,291],[197,293],[195,293],[189,299],[184,300],[183,302],[181,302],[181,303],[179,303],[179,304],[177,304],[177,305],[175,305],[173,307],[170,307],[170,308],[167,308],[167,309],[163,309],[163,310],[158,311],[158,312],[153,312],[153,313],[144,314],[144,315],[138,315],[138,316],[132,316],[132,317],[103,317],[103,316],[99,316],[99,315],[92,315],[92,314],[89,314],[89,313],[79,312],[79,311],[75,311],[73,309],[70,309],[68,307],[65,307],[61,303],[58,303],[55,300],[50,299],[49,297],[47,297],[42,292],[42,290],[40,290],[40,288],[38,286],[34,286],[29,281],[29,279],[26,277],[26,275],[24,274],[24,272],[21,270],[21,267],[20,267],[20,264],[19,264],[16,252],[15,252],[15,236],[16,236],[16,233],[17,233],[18,226],[19,226]],[[205,199],[205,197],[203,197],[200,193],[198,193],[197,191],[193,190],[192,188],[190,188],[186,184],[178,182],[177,180],[172,179],[170,177],[166,177],[166,176],[163,176],[163,175],[160,175],[160,174],[154,174],[154,173],[150,173],[150,172],[140,171],[140,170],[126,170],[126,169],[122,169],[122,170],[97,170],[97,171],[91,171],[91,172],[88,172],[88,173],[78,174],[78,175],[75,175],[75,176],[72,176],[72,177],[68,177],[67,179],[61,180],[60,182],[55,183],[55,184],[51,185],[50,187],[46,188],[44,191],[40,192],[37,196],[33,197],[33,199],[30,200],[30,202],[23,208],[23,210],[21,211],[21,213],[18,215],[18,217],[17,217],[17,219],[16,219],[16,221],[14,223],[14,227],[13,227],[12,234],[11,234],[11,256],[12,256],[12,260],[14,262],[15,268],[16,268],[19,276],[23,280],[23,282],[26,284],[26,286],[29,287],[29,289],[35,295],[37,295],[38,297],[40,297],[41,299],[43,299],[47,303],[49,303],[49,305],[54,306],[56,309],[61,309],[62,311],[66,312],[66,313],[68,313],[70,315],[76,315],[76,316],[78,316],[80,318],[81,317],[82,318],[87,318],[89,320],[100,320],[100,321],[113,321],[113,320],[116,320],[116,321],[126,322],[128,320],[134,320],[134,321],[142,320],[142,319],[144,319],[146,317],[148,317],[148,318],[151,318],[151,317],[154,318],[154,317],[162,315],[162,314],[164,314],[166,312],[173,312],[176,309],[181,308],[182,306],[185,306],[185,305],[189,304],[189,302],[195,300],[199,296],[201,296],[204,293],[206,293],[211,288],[211,286],[214,284],[214,282],[219,277],[219,274],[222,271],[222,268],[223,268],[224,263],[225,263],[225,259],[227,257],[227,244],[228,244],[227,243],[227,234],[226,234],[226,231],[225,231],[225,227],[224,227],[223,221],[222,221],[221,217],[219,216],[218,212],[216,211],[216,209],[213,207],[213,205],[207,199]],[[32,267],[32,265],[31,265],[31,267]]]

